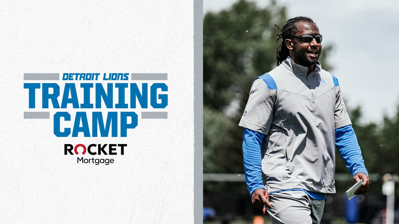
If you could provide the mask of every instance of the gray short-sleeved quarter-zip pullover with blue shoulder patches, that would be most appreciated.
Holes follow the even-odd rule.
[[[261,169],[270,192],[335,193],[335,130],[351,121],[338,80],[320,65],[307,73],[288,57],[256,79],[239,123],[266,135]]]

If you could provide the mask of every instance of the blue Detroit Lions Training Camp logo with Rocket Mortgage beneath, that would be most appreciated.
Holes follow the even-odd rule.
[[[60,151],[77,163],[109,165],[128,144],[90,139],[132,136],[139,118],[167,119],[167,80],[167,73],[24,73],[24,119],[52,119],[49,128],[65,140]],[[88,143],[72,145],[76,137]]]

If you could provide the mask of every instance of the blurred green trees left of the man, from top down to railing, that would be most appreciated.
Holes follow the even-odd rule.
[[[203,21],[204,173],[242,173],[241,110],[255,77],[276,65],[285,8],[240,0]]]

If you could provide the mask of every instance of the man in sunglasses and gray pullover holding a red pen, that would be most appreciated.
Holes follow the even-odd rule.
[[[278,66],[255,79],[239,123],[245,178],[253,205],[266,206],[273,224],[320,223],[326,193],[335,193],[335,147],[354,181],[363,180],[356,194],[370,179],[338,79],[318,62],[318,27],[296,17],[281,32]]]

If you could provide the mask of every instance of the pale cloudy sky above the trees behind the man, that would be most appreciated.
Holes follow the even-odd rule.
[[[203,0],[203,13],[219,12],[237,0]],[[269,0],[253,0],[261,8]],[[396,0],[277,0],[287,16],[308,16],[333,45],[330,71],[341,86],[347,108],[362,108],[361,122],[381,123],[399,105],[399,1]],[[284,24],[280,24],[282,27]],[[265,71],[268,72],[268,71]]]

